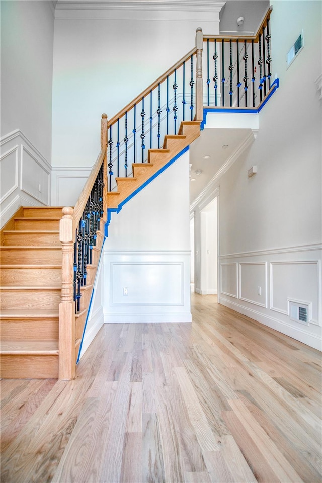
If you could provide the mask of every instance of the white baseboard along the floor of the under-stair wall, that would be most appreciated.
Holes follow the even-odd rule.
[[[129,323],[148,323],[148,322],[178,322],[190,323],[192,320],[191,312],[186,313],[107,313],[104,314],[106,324],[129,324]]]

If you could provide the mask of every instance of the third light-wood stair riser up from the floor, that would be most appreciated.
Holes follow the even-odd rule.
[[[60,290],[15,290],[1,292],[1,309],[58,309],[61,301]]]

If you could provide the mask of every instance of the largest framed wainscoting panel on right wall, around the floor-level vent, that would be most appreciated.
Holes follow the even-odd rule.
[[[319,261],[272,262],[271,310],[289,315],[288,298],[311,304],[309,323],[319,324]]]

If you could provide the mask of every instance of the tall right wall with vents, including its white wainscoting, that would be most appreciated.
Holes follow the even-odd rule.
[[[256,141],[220,180],[220,303],[321,348],[321,2],[272,2],[273,75]],[[286,69],[303,29],[304,49]],[[258,173],[248,178],[256,164]],[[258,287],[261,287],[258,294]],[[308,326],[289,300],[311,306]]]

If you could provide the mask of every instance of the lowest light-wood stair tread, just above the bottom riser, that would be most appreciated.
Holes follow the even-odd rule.
[[[2,341],[1,355],[58,355],[58,341]]]

